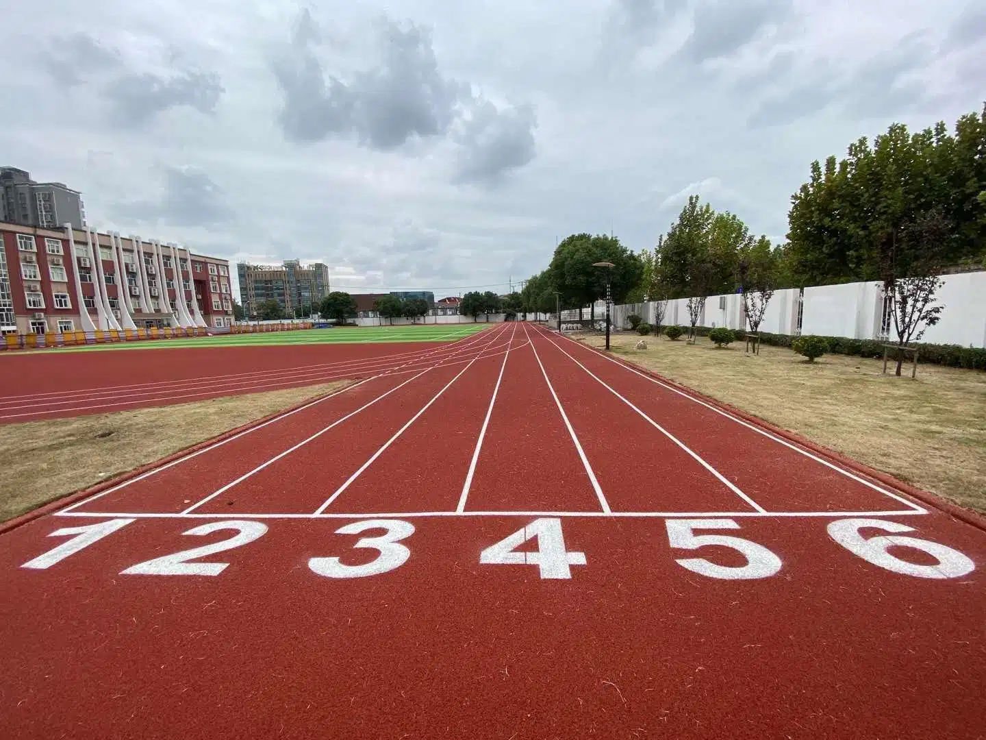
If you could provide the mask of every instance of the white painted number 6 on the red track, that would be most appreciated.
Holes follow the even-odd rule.
[[[853,555],[859,555],[867,562],[902,575],[918,578],[957,578],[975,569],[975,563],[957,550],[937,542],[919,540],[916,537],[893,537],[878,535],[869,539],[860,534],[864,527],[881,529],[884,532],[913,532],[913,527],[882,519],[840,519],[828,525],[828,534],[839,545]],[[931,555],[938,560],[937,565],[918,565],[890,555],[892,547],[913,548]]]

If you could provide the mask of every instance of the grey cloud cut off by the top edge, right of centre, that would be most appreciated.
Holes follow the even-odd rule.
[[[695,61],[730,56],[767,26],[782,22],[791,0],[712,0],[695,8],[695,27],[681,54]]]

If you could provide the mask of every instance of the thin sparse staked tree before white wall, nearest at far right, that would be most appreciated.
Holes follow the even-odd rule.
[[[935,294],[945,284],[942,271],[944,245],[951,224],[940,208],[921,214],[905,224],[899,236],[881,253],[881,292],[888,304],[897,334],[897,368],[900,376],[904,347],[918,341],[928,327],[941,320],[945,306],[935,303]]]

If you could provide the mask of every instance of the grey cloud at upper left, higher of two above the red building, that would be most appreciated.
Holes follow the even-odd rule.
[[[106,98],[113,104],[115,121],[140,126],[180,106],[212,113],[224,92],[219,75],[212,72],[185,71],[171,78],[131,73],[113,80],[106,87]]]

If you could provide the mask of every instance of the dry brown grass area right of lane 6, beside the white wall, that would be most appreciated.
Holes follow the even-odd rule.
[[[919,365],[916,380],[882,360],[829,354],[808,363],[782,347],[617,334],[620,355],[661,375],[978,511],[986,511],[986,373]],[[583,337],[601,346],[598,335]]]

